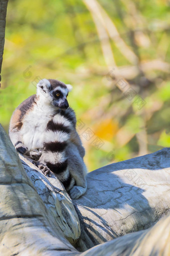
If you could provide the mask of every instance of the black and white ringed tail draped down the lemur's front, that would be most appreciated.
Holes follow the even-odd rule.
[[[43,145],[44,150],[41,156],[43,162],[62,182],[67,191],[75,183],[69,173],[65,153],[72,127],[71,120],[62,113],[56,114],[48,121]]]

